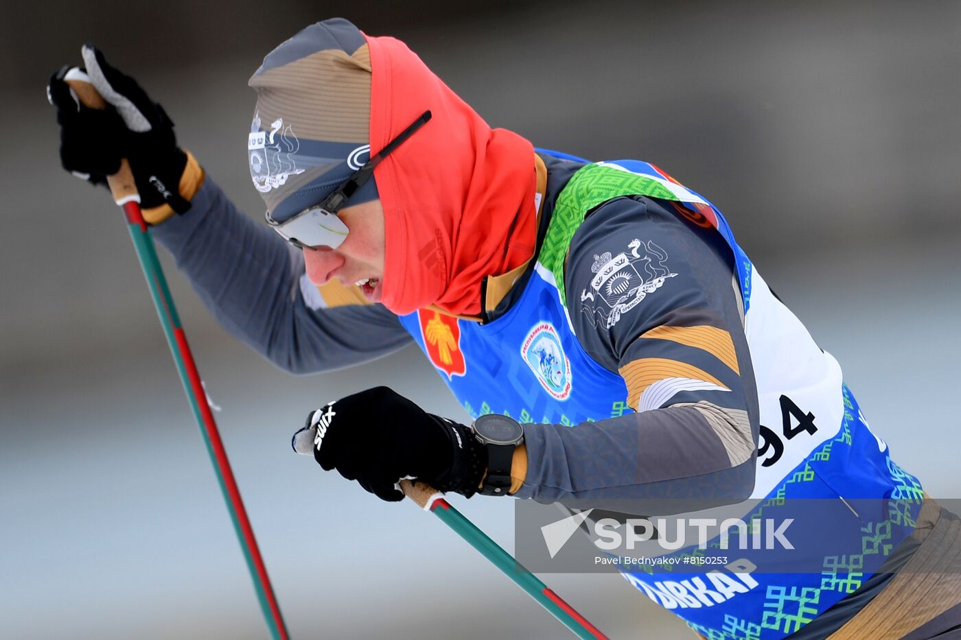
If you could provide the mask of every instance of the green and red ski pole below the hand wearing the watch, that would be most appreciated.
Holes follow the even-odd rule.
[[[503,571],[507,578],[524,589],[534,601],[547,609],[576,636],[584,640],[607,640],[607,636],[600,629],[589,623],[573,606],[561,600],[560,596],[531,574],[511,554],[505,552],[500,545],[444,500],[444,494],[429,484],[410,480],[401,480],[401,489],[407,498],[420,505],[425,511],[431,511],[445,525],[454,529],[457,535],[493,562],[494,566]]]

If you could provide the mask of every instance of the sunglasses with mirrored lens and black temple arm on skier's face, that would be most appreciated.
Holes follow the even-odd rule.
[[[317,246],[336,249],[347,237],[347,225],[337,217],[337,211],[357,192],[358,188],[370,180],[371,176],[374,175],[374,168],[381,163],[381,160],[401,146],[408,137],[427,124],[430,119],[431,111],[421,113],[420,117],[414,120],[407,129],[388,142],[377,155],[367,160],[362,167],[334,189],[333,193],[324,198],[324,201],[319,205],[308,207],[283,222],[274,220],[270,211],[267,211],[264,214],[267,224],[275,232],[281,234],[284,240],[299,249],[309,249]]]

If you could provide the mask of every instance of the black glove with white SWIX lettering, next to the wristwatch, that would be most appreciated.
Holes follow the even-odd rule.
[[[291,446],[389,502],[404,500],[405,478],[470,498],[487,468],[487,450],[469,429],[385,386],[311,411]]]

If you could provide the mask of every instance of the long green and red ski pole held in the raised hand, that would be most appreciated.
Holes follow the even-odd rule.
[[[96,88],[90,84],[84,71],[71,69],[67,73],[65,81],[74,90],[85,107],[107,109],[107,103]],[[267,568],[260,556],[257,539],[254,537],[254,529],[247,518],[247,511],[244,509],[243,501],[240,498],[240,490],[237,487],[236,480],[234,480],[234,472],[231,471],[231,464],[227,459],[224,443],[220,439],[220,433],[217,431],[217,425],[207,403],[207,392],[204,390],[200,374],[197,372],[197,366],[190,354],[190,347],[187,345],[180,317],[177,315],[173,298],[167,287],[166,279],[163,277],[163,270],[160,267],[160,259],[157,258],[154,240],[150,236],[147,224],[143,221],[143,215],[140,213],[140,196],[136,191],[136,183],[134,182],[134,174],[130,169],[130,163],[126,159],[121,160],[120,170],[110,176],[107,181],[111,187],[113,200],[126,214],[127,226],[131,239],[134,240],[136,256],[140,260],[143,275],[150,287],[151,297],[154,299],[157,314],[160,316],[160,325],[162,325],[163,333],[166,335],[167,344],[170,346],[170,353],[173,355],[177,371],[180,373],[181,382],[184,383],[187,400],[193,409],[197,426],[204,436],[207,453],[213,463],[217,480],[220,482],[224,501],[227,503],[227,509],[234,521],[234,530],[240,542],[240,548],[247,560],[247,568],[250,570],[251,578],[254,579],[254,588],[257,591],[260,609],[266,620],[267,628],[270,629],[270,634],[275,640],[286,640],[288,638],[287,629],[283,624],[280,605],[274,596],[270,578],[267,577]]]

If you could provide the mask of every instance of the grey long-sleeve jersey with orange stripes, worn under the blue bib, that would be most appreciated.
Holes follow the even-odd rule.
[[[542,229],[579,166],[548,160]],[[641,391],[663,378],[719,382],[728,390],[703,384],[643,412],[575,427],[526,426],[528,472],[519,497],[703,496],[724,486],[729,502],[750,493],[757,401],[730,251],[713,229],[682,213],[642,197],[617,198],[591,211],[570,246],[569,314],[587,353],[625,378],[635,409]],[[303,255],[237,211],[209,178],[189,211],[153,233],[217,320],[286,371],[357,364],[412,339],[381,305],[327,307],[305,276]],[[676,276],[650,304],[608,328],[576,293],[594,277],[598,256],[623,251],[635,237],[665,252]]]

